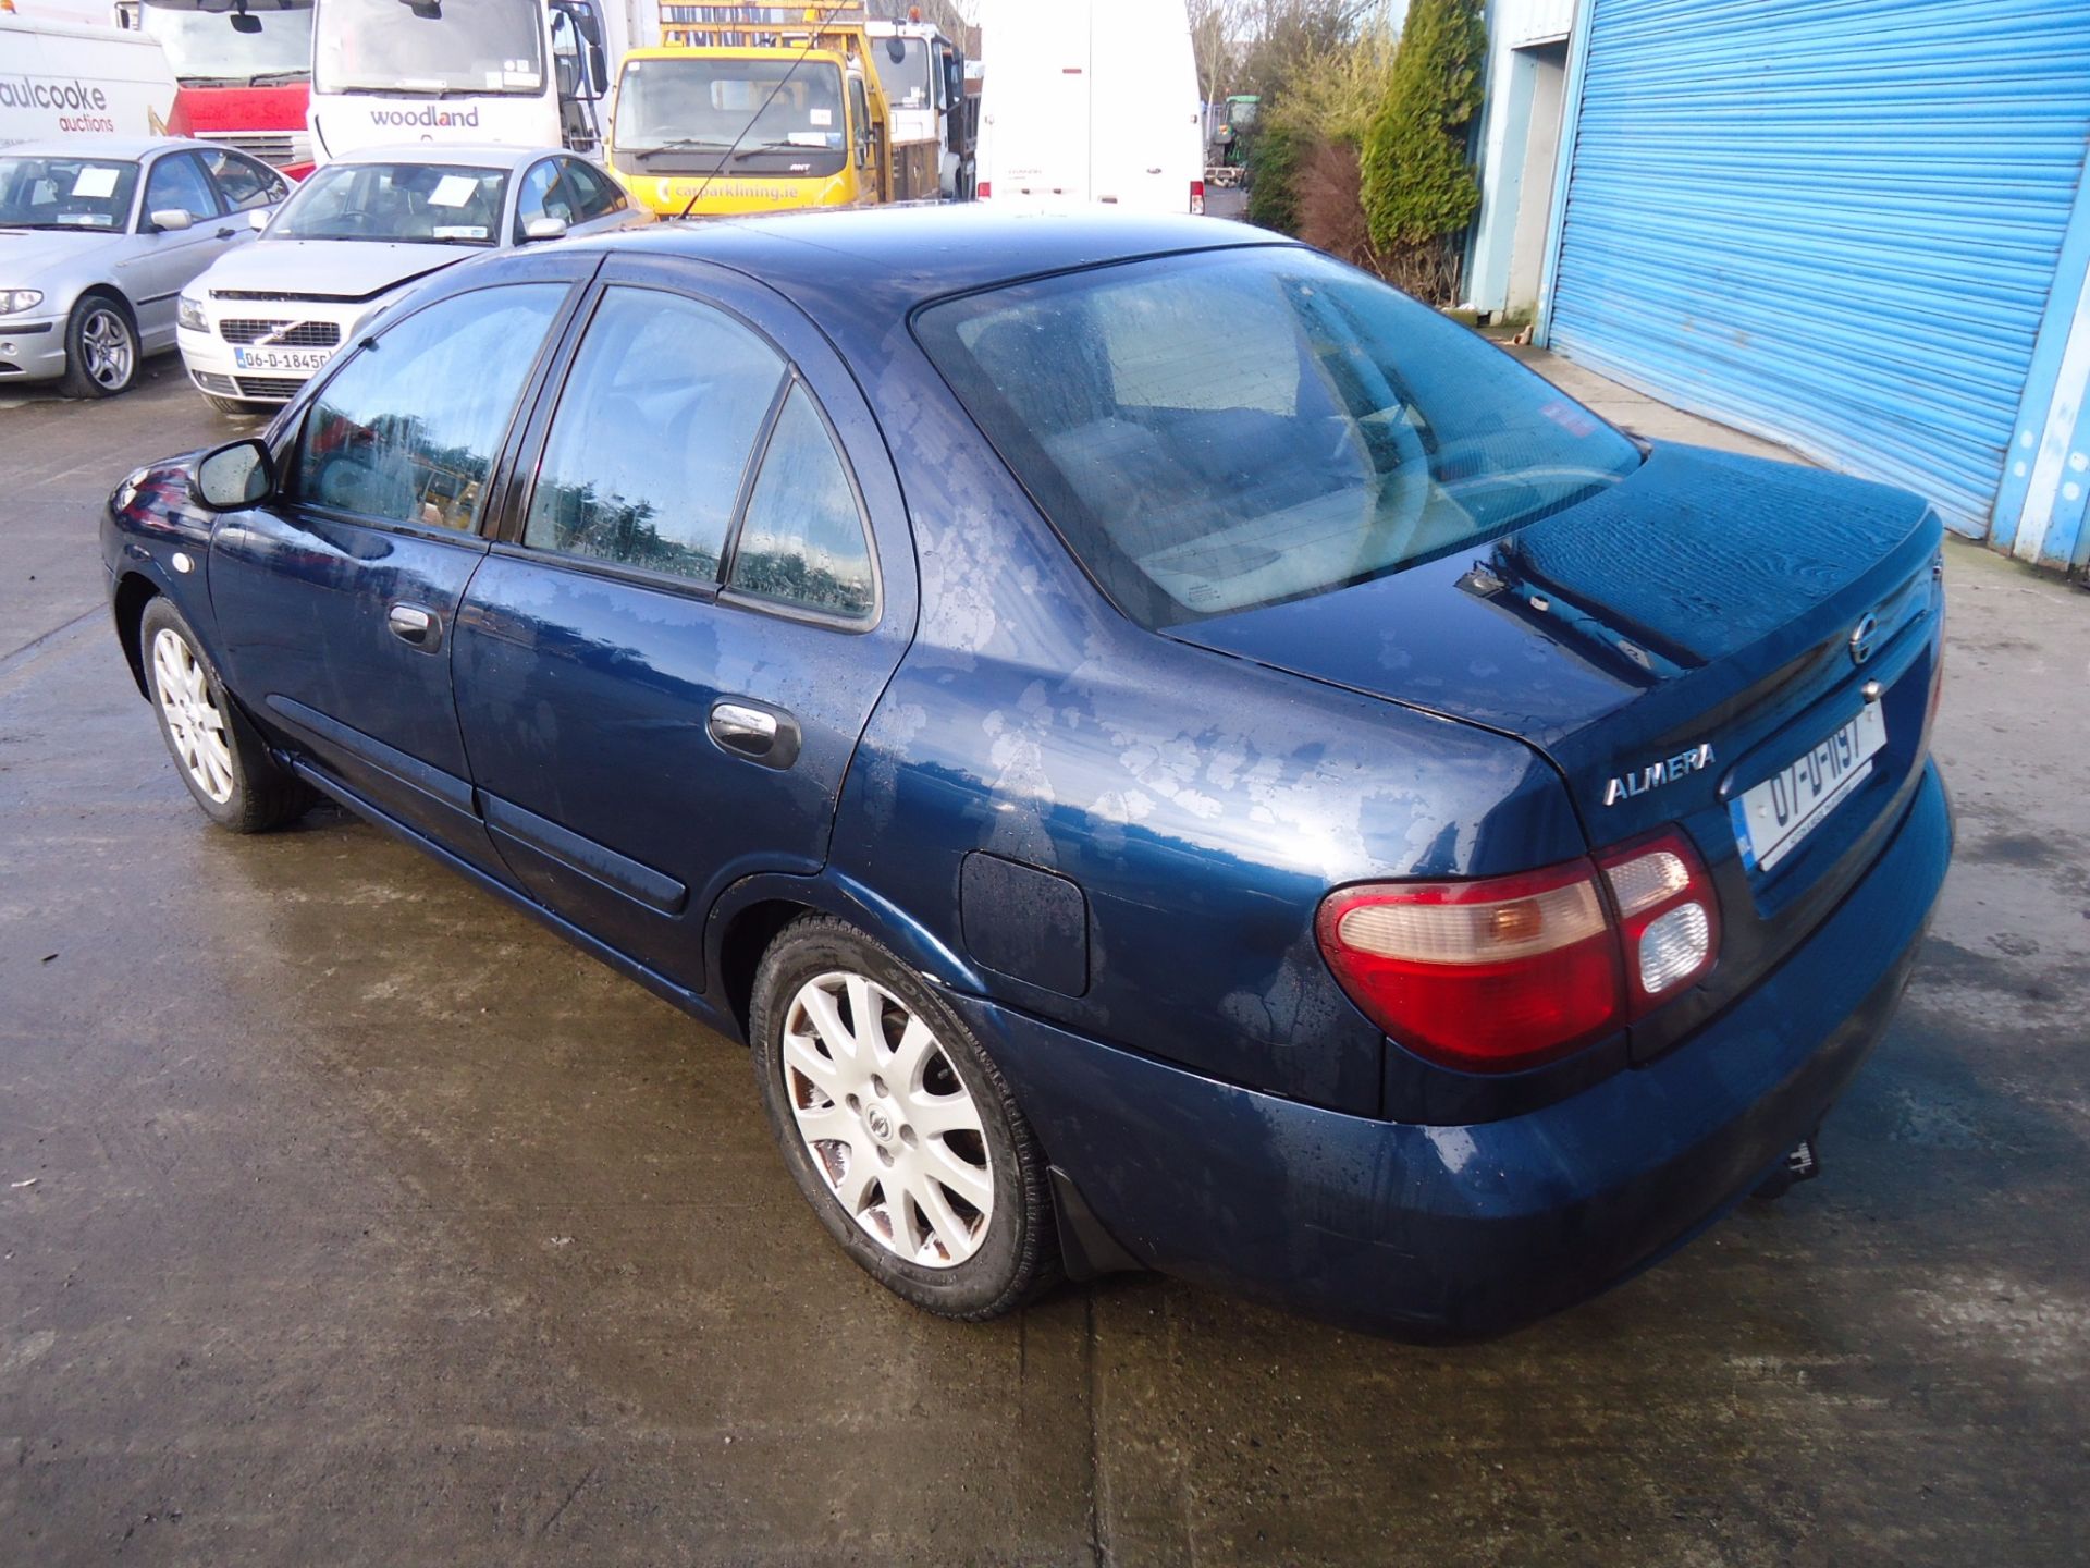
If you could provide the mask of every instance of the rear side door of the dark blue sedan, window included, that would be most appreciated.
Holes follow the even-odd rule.
[[[583,309],[458,619],[458,719],[514,876],[702,989],[717,895],[826,861],[913,548],[855,381],[773,293],[623,259]]]

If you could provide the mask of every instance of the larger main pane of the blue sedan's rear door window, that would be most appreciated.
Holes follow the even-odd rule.
[[[719,579],[784,358],[725,312],[606,289],[552,418],[522,544]]]

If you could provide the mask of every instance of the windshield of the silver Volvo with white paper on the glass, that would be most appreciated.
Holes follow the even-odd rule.
[[[297,188],[265,240],[495,245],[504,169],[454,163],[328,163]]]

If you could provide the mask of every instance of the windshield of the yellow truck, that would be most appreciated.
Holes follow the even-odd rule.
[[[834,61],[627,61],[617,92],[617,151],[635,159],[667,151],[717,157],[736,142],[742,153],[832,153],[846,136],[842,69]]]

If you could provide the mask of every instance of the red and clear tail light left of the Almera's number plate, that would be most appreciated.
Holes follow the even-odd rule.
[[[1511,1073],[1701,978],[1720,951],[1720,907],[1697,853],[1664,832],[1542,872],[1338,889],[1315,935],[1342,989],[1396,1041],[1467,1073]]]

